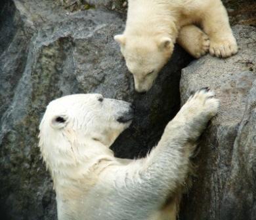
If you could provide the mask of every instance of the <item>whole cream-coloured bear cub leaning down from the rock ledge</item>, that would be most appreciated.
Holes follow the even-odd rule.
[[[125,31],[114,38],[138,92],[151,88],[176,41],[195,58],[238,51],[221,0],[129,0]]]

